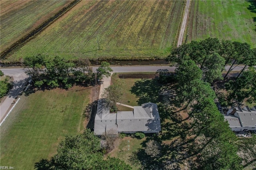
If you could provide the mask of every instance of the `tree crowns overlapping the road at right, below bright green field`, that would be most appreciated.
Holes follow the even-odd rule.
[[[192,60],[202,70],[203,79],[212,83],[216,79],[223,79],[222,71],[225,65],[230,64],[224,79],[238,65],[244,65],[239,75],[248,66],[256,65],[256,48],[251,49],[248,43],[231,42],[207,38],[200,42],[192,41],[172,49],[167,60],[178,66],[185,60]]]

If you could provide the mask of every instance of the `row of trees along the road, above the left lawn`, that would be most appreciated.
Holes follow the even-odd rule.
[[[110,76],[110,64],[102,62],[95,72],[87,58],[79,58],[76,63],[59,56],[49,57],[44,54],[24,57],[22,64],[26,73],[32,77],[36,87],[47,85],[50,88],[68,89],[75,83],[96,85],[104,76]]]

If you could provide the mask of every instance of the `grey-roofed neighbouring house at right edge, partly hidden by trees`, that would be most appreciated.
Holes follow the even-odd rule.
[[[256,130],[256,106],[251,109],[248,106],[243,109],[240,106],[235,107],[230,109],[224,118],[233,131]]]

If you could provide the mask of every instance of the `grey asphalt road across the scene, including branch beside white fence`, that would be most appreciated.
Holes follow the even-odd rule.
[[[229,69],[230,66],[226,66],[226,70]],[[96,71],[98,67],[93,67],[93,70]],[[240,71],[243,66],[236,67],[233,71]],[[175,67],[169,66],[118,66],[112,67],[113,73],[120,72],[156,72],[159,69],[167,69],[168,71],[174,71]],[[10,68],[4,69],[1,68],[2,72],[5,75],[9,75],[14,79],[14,86],[10,90],[6,99],[0,105],[0,120],[4,119],[4,116],[8,113],[12,105],[14,105],[14,100],[20,94],[20,92],[24,89],[28,81],[28,76],[25,73],[25,70],[22,68]]]

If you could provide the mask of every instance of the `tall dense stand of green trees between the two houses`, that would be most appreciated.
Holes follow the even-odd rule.
[[[238,147],[234,144],[237,140],[236,135],[230,130],[228,123],[224,122],[223,115],[218,111],[214,102],[216,95],[210,87],[210,83],[217,76],[216,72],[209,71],[212,67],[209,65],[211,62],[208,59],[219,56],[216,53],[209,53],[209,57],[202,56],[199,67],[191,58],[183,58],[178,63],[175,70],[175,97],[173,101],[170,101],[168,107],[174,105],[175,107],[184,107],[188,111],[191,121],[187,125],[188,132],[183,134],[183,138],[186,138],[186,135],[193,136],[189,137],[191,145],[187,146],[190,147],[190,155],[185,156],[185,158],[196,157],[192,162],[193,168],[241,169],[241,159],[237,155]],[[223,61],[221,60],[220,63],[223,64]],[[212,65],[220,66],[220,63],[215,61]],[[222,67],[217,71],[221,71]],[[168,107],[165,111],[172,114]]]

